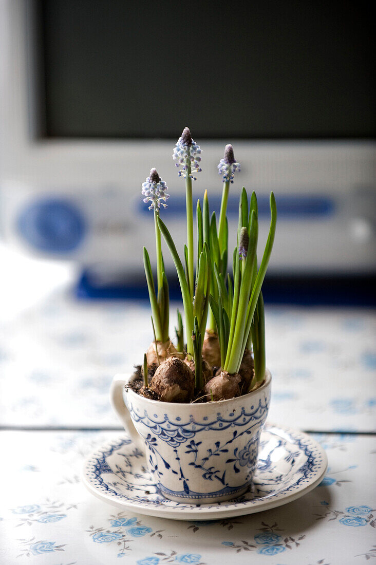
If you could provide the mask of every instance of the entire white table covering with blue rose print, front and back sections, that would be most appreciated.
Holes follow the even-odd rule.
[[[266,306],[266,318],[269,421],[312,432],[329,470],[286,506],[192,522],[119,512],[80,481],[85,456],[123,433],[109,385],[150,342],[147,303],[77,303],[57,290],[3,323],[0,563],[346,565],[376,558],[376,313]]]

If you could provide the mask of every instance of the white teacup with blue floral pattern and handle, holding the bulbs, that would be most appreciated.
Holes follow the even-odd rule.
[[[111,404],[144,451],[155,485],[175,502],[208,504],[236,498],[252,483],[270,402],[271,375],[257,390],[229,400],[176,404],[150,400],[116,375]]]

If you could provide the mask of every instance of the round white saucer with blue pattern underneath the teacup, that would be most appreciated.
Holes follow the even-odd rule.
[[[307,434],[266,425],[253,484],[232,501],[192,505],[163,498],[147,470],[144,454],[124,433],[95,451],[83,481],[97,498],[123,510],[174,520],[215,520],[261,512],[300,498],[327,469],[325,451]]]

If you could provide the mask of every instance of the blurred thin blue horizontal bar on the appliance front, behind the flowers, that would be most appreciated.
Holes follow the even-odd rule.
[[[325,195],[291,195],[279,194],[275,197],[278,209],[279,220],[299,220],[301,218],[317,218],[320,216],[330,216],[335,211],[335,203],[332,198]],[[202,199],[201,199],[202,200]],[[258,201],[258,216],[262,219],[267,219],[270,216],[269,196],[261,195],[257,198]],[[194,200],[195,202],[195,200]],[[211,196],[209,200],[210,212],[215,211],[219,214],[221,208],[221,196]],[[196,206],[193,206],[196,208]],[[150,213],[148,205],[140,202],[139,210],[142,213]],[[239,195],[229,196],[227,204],[227,216],[237,217],[239,211]],[[161,210],[163,214],[163,208]],[[168,200],[168,209],[166,213],[173,216],[185,216],[185,196],[176,196]]]

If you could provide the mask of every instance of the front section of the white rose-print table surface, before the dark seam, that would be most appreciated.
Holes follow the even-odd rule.
[[[84,458],[104,442],[119,438],[119,432],[0,432],[1,483],[8,486],[11,477],[12,484],[2,492],[0,561],[3,565],[361,565],[366,555],[374,554],[375,439],[313,437],[329,459],[321,486],[260,514],[202,522],[122,512],[87,492],[79,479]],[[31,508],[25,509],[26,505]],[[51,521],[42,522],[47,519]],[[263,529],[273,536],[264,538],[269,543],[260,544],[255,536]],[[43,549],[49,553],[33,553]]]

